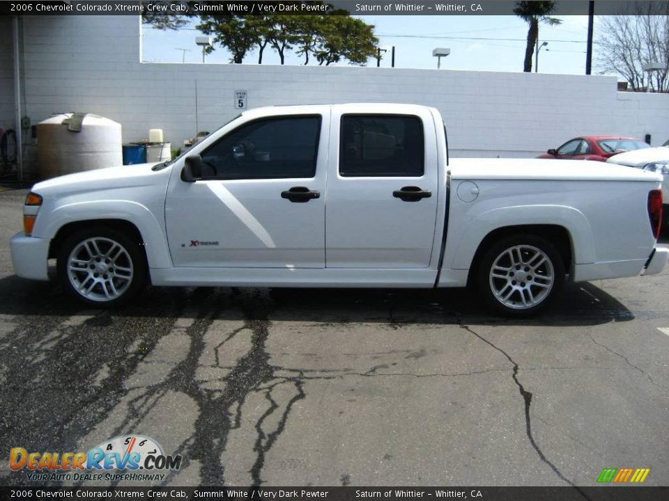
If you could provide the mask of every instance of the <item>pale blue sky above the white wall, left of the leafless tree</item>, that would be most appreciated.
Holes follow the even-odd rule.
[[[376,26],[375,33],[383,48],[395,46],[395,66],[436,68],[432,57],[435,47],[448,47],[451,55],[442,58],[442,68],[452,70],[484,70],[520,72],[523,70],[527,24],[516,16],[357,16]],[[559,26],[542,25],[539,40],[548,45],[539,54],[542,73],[585,74],[585,40],[587,16],[562,16]],[[201,63],[201,49],[194,29],[160,31],[143,26],[143,60],[157,63]],[[440,38],[448,37],[448,38]],[[597,40],[597,19],[595,20]],[[185,53],[178,49],[189,49]],[[548,49],[548,50],[546,50]],[[595,58],[597,45],[594,46]],[[390,51],[381,61],[390,66]],[[207,64],[229,63],[229,53],[218,48],[206,58]],[[245,58],[254,64],[255,54]],[[286,64],[301,64],[302,58],[289,55]],[[263,64],[279,64],[279,56],[266,49]],[[368,65],[376,65],[376,60]],[[593,67],[593,73],[597,68]]]

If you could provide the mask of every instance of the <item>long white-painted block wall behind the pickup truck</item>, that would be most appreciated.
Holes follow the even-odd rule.
[[[0,19],[0,126],[13,124],[10,19]],[[89,111],[123,141],[164,129],[180,145],[249,107],[326,102],[436,106],[455,156],[532,157],[580,134],[669,138],[669,95],[617,93],[614,77],[376,67],[140,63],[139,18],[24,17],[25,113]],[[4,29],[5,27],[8,29]],[[197,81],[198,127],[195,125]]]

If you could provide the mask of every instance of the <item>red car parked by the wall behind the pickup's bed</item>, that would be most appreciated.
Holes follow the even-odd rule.
[[[537,158],[606,161],[617,153],[650,148],[640,139],[623,136],[581,136],[548,150]]]

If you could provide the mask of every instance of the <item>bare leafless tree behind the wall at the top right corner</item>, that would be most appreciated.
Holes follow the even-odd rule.
[[[669,2],[629,2],[618,15],[599,16],[597,66],[617,73],[631,90],[669,93]],[[649,63],[661,70],[643,70]]]

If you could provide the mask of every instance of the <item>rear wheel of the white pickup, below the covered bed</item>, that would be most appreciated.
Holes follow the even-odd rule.
[[[496,242],[476,270],[479,295],[491,310],[505,317],[537,315],[555,301],[564,280],[560,253],[550,241],[532,234],[512,235]]]

